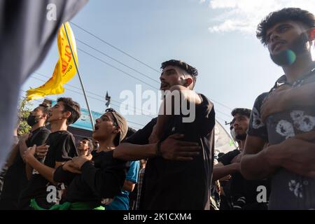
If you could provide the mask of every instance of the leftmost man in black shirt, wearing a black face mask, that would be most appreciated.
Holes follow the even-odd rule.
[[[25,134],[13,149],[16,151],[13,164],[10,165],[4,179],[3,192],[1,194],[0,209],[18,209],[18,198],[20,193],[27,186],[27,174],[25,162],[22,159],[28,147],[41,146],[47,139],[50,131],[45,128],[49,108],[45,104],[39,104],[27,118],[31,126],[29,134]]]

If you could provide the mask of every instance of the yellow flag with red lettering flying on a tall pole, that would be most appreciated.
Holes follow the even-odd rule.
[[[64,30],[66,27],[66,31]],[[67,83],[73,76],[76,75],[76,66],[71,55],[71,48],[66,38],[66,32],[69,36],[73,55],[78,65],[78,55],[76,52],[76,40],[68,22],[65,22],[60,27],[57,36],[57,45],[59,52],[59,59],[55,66],[52,77],[40,87],[27,90],[27,100],[39,99],[45,97],[45,95],[61,94],[64,92],[64,83]]]

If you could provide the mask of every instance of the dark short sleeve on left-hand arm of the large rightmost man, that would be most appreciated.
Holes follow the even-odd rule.
[[[262,123],[260,117],[260,107],[262,106],[262,102],[267,97],[268,93],[262,93],[255,100],[253,110],[251,111],[251,118],[248,123],[247,134],[250,136],[260,137],[265,141],[268,141],[267,135],[267,127],[264,123]]]

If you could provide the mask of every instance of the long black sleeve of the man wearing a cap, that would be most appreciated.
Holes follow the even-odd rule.
[[[85,162],[81,177],[100,198],[113,198],[120,194],[125,183],[127,162],[113,159],[113,151],[106,153],[103,160],[101,168]]]

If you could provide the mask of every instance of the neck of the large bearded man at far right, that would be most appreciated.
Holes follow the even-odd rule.
[[[295,80],[300,78],[300,76],[307,73],[311,66],[314,66],[314,62],[311,59],[311,55],[309,53],[305,53],[303,55],[297,56],[294,64],[290,66],[283,66],[282,69],[286,74],[286,79],[288,83],[294,83]]]

